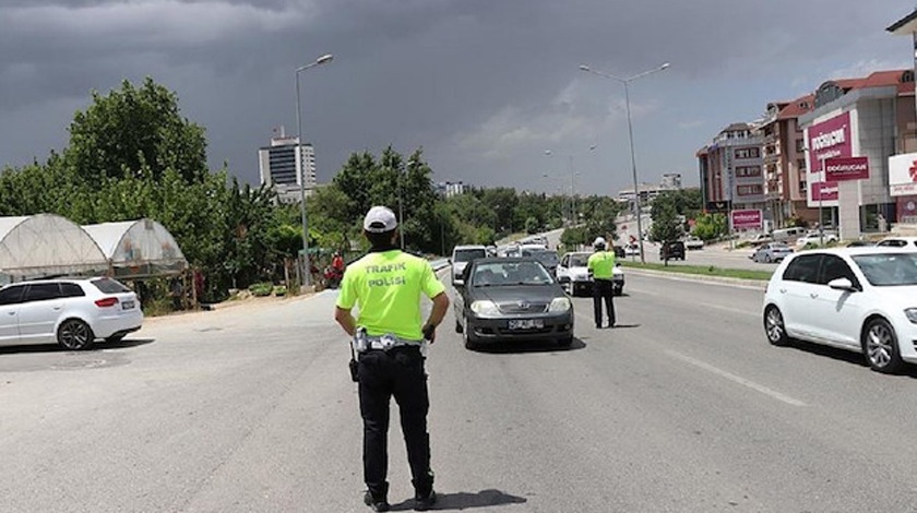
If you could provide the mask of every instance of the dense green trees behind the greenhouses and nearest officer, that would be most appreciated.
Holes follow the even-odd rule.
[[[44,162],[0,171],[0,216],[52,213],[80,225],[153,218],[204,273],[205,301],[225,299],[230,288],[278,282],[298,258],[299,205],[278,203],[267,187],[239,183],[225,164],[210,169],[205,129],[182,117],[178,96],[152,79],[93,92],[69,133],[67,146]],[[391,146],[379,155],[352,154],[330,183],[309,195],[310,248],[365,250],[362,216],[377,204],[404,213],[405,246],[418,253],[448,254],[458,243],[492,244],[511,234],[564,226],[564,244],[599,235],[614,239],[620,210],[614,199],[504,187],[446,198],[433,175],[422,148],[406,158]]]

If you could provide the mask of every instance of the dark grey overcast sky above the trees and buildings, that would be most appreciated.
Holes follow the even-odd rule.
[[[914,0],[0,0],[0,167],[62,150],[90,93],[153,77],[224,162],[257,183],[273,129],[303,139],[319,181],[355,151],[422,146],[434,179],[580,193],[698,182],[696,150],[769,102],[913,65],[885,27]],[[590,150],[595,145],[595,150]],[[550,150],[551,155],[545,151]],[[543,178],[550,175],[561,178]],[[2,199],[0,199],[2,201]]]

